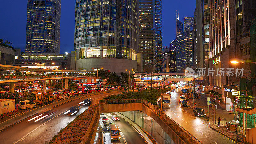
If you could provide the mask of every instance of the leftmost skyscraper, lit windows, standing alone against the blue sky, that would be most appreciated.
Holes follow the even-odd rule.
[[[60,53],[61,0],[28,0],[26,53]]]

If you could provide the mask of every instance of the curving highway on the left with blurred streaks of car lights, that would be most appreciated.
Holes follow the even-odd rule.
[[[106,96],[119,94],[119,92],[110,92],[103,94],[95,94],[85,98],[91,98],[92,101],[97,101],[103,99]],[[28,121],[31,118],[34,118],[34,115],[28,117],[16,123],[6,129],[0,131],[0,143],[2,144],[11,144],[11,143],[48,143],[57,134],[60,129],[64,128],[69,122],[76,118],[76,115],[82,113],[88,106],[84,106],[79,110],[76,115],[67,116],[63,113],[66,112],[70,107],[78,105],[79,102],[83,101],[85,98],[70,101],[68,103],[54,107],[56,110],[54,115],[51,117],[46,117],[46,119],[41,119],[40,121],[34,122],[34,120]]]

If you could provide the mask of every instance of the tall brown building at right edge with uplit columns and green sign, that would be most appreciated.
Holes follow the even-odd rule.
[[[256,18],[256,1],[209,0],[208,2],[209,68],[215,71],[220,68],[224,68],[225,71],[227,71],[227,68],[244,68],[244,77],[211,74],[207,77],[209,87],[211,90],[222,94],[221,103],[226,104],[226,110],[228,111],[236,111],[237,107],[250,107],[251,102],[255,100],[255,93],[252,93],[254,88],[251,86],[255,86],[255,64],[251,64],[250,69],[247,62],[255,62],[256,59],[255,48],[254,46],[252,47],[254,43],[252,44],[250,40],[255,37],[255,34],[251,33],[252,29],[249,28],[249,24],[251,20]],[[233,58],[244,59],[245,62],[230,63]],[[227,90],[232,91],[232,93]],[[255,104],[251,106],[254,107]],[[247,117],[247,119],[251,118]],[[246,125],[248,123],[249,121],[247,121]],[[255,126],[254,123],[253,126]]]

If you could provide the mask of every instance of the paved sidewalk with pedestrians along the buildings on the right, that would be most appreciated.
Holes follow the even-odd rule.
[[[200,93],[200,92],[197,92],[197,93]],[[238,136],[238,134],[236,134],[236,131],[229,131],[226,127],[226,122],[234,120],[234,113],[228,112],[227,110],[225,110],[225,107],[226,107],[225,104],[221,104],[221,103],[215,101],[214,105],[217,105],[216,120],[215,120],[215,111],[214,111],[214,116],[212,116],[212,114],[213,114],[212,107],[210,107],[210,115],[208,115],[208,106],[206,105],[207,97],[210,97],[210,101],[213,103],[212,97],[210,95],[200,93],[199,99],[194,98],[194,103],[196,103],[196,107],[200,107],[205,111],[206,116],[208,116],[208,118],[209,118],[209,125],[210,125],[211,129],[213,129],[217,132],[220,132],[221,134],[225,135],[226,137],[236,141],[236,136]],[[193,100],[189,100],[189,105],[191,108],[194,108],[193,107],[194,104],[192,101]],[[220,127],[218,127],[218,121],[217,121],[219,116],[221,118]],[[238,143],[240,143],[240,142],[238,142]]]

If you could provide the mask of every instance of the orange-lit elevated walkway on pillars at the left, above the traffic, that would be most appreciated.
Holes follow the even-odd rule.
[[[92,82],[92,79],[96,81],[95,76],[91,76],[95,71],[83,71],[83,70],[53,70],[53,69],[43,69],[43,68],[28,68],[28,67],[17,67],[10,65],[1,65],[0,71],[9,72],[34,72],[34,73],[58,73],[57,75],[41,75],[41,76],[10,76],[2,75],[0,76],[0,84],[9,84],[9,92],[14,92],[14,83],[24,83],[31,81],[43,81],[44,88],[46,88],[46,81],[49,84],[54,84],[55,80],[65,79],[65,88],[68,88],[68,79],[83,79],[83,82]],[[61,73],[61,74],[60,74]]]

